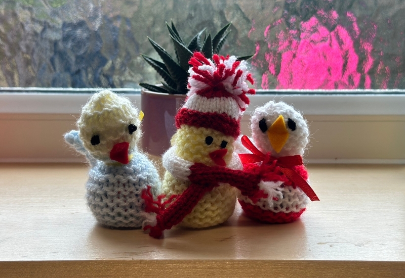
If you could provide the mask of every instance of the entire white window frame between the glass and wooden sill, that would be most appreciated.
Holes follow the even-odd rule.
[[[0,162],[84,161],[63,142],[92,92],[99,89],[0,88]],[[138,107],[136,89],[125,93]],[[329,93],[330,91],[328,91]],[[405,90],[282,90],[251,96],[242,119],[269,100],[294,105],[311,132],[308,163],[405,163]]]

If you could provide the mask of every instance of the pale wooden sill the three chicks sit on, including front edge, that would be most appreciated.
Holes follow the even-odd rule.
[[[156,240],[96,223],[84,164],[0,164],[0,277],[405,277],[405,165],[308,170],[320,202],[294,223],[237,206],[220,226]]]

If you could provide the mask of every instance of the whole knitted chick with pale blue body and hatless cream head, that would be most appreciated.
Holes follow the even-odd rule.
[[[147,186],[154,196],[161,187],[155,167],[137,149],[142,118],[129,99],[103,90],[83,107],[78,130],[64,135],[89,160],[87,204],[108,227],[137,228],[155,221],[155,215],[144,211],[141,198]]]

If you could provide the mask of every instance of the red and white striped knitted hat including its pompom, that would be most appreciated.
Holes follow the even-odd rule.
[[[195,52],[189,64],[184,106],[176,115],[176,127],[191,125],[213,128],[236,138],[240,134],[240,118],[249,104],[246,94],[255,94],[246,81],[253,84],[246,61],[235,56],[214,55],[213,63]]]

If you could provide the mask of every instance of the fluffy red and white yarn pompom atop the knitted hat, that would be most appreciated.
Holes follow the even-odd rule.
[[[252,74],[249,73],[246,61],[237,61],[235,56],[223,57],[215,54],[213,61],[203,54],[195,52],[188,70],[188,97],[197,94],[206,98],[232,97],[238,104],[242,114],[249,104],[246,94],[255,94],[255,89],[249,88],[247,81],[253,84]]]

